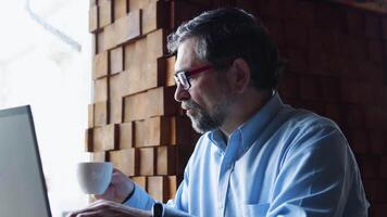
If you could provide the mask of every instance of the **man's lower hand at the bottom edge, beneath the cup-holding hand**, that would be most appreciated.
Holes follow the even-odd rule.
[[[151,212],[130,208],[111,201],[97,201],[87,208],[73,212],[67,217],[151,217]]]

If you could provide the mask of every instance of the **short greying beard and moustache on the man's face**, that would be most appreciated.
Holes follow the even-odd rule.
[[[192,111],[192,115],[187,116],[191,119],[195,131],[199,133],[204,133],[221,127],[226,119],[227,107],[229,105],[228,101],[216,104],[213,112],[209,113],[191,99],[183,103],[185,104],[184,107]]]

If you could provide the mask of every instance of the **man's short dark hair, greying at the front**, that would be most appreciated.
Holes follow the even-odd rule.
[[[250,67],[252,85],[259,89],[276,89],[285,62],[269,31],[253,15],[241,9],[226,8],[203,12],[183,23],[167,37],[167,49],[175,53],[182,42],[197,39],[199,60],[216,69],[229,66],[225,60],[244,59]]]

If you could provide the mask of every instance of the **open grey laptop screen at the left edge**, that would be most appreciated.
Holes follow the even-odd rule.
[[[51,217],[29,105],[0,111],[0,216]]]

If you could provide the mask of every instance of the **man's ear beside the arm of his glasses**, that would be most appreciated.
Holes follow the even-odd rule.
[[[242,93],[246,91],[250,84],[250,67],[244,59],[234,60],[228,81],[237,92]]]

